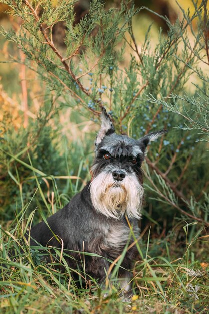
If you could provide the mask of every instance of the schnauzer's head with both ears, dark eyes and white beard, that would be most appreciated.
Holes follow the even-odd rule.
[[[90,185],[91,200],[97,211],[112,218],[124,214],[128,218],[140,217],[144,194],[141,164],[149,142],[165,132],[152,132],[138,140],[117,135],[103,108]]]

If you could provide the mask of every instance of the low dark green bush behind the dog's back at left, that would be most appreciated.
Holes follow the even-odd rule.
[[[3,129],[5,122],[7,124],[7,120],[2,122]],[[71,147],[68,150],[65,137],[58,142],[57,135],[60,132],[61,128],[52,129],[49,125],[40,125],[40,121],[37,120],[29,129],[20,128],[17,137],[13,125],[11,127],[7,125],[7,132],[3,135],[0,148],[3,170],[0,192],[1,216],[4,220],[13,219],[16,210],[28,204],[30,211],[37,206],[40,210],[46,211],[48,205],[46,206],[45,197],[49,199],[53,187],[57,202],[55,208],[64,206],[78,192],[82,185],[79,177],[84,178],[87,175],[87,160],[92,145],[83,148],[80,143],[78,145],[78,140],[75,140],[70,143]],[[75,179],[72,176],[75,176]],[[32,199],[40,184],[43,195],[37,193]],[[35,221],[37,219],[38,216]]]

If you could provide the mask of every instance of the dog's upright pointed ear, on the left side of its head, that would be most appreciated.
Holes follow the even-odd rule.
[[[115,132],[114,125],[112,123],[112,120],[110,119],[109,115],[107,114],[107,111],[104,107],[102,107],[102,113],[101,113],[101,128],[99,130],[99,133],[97,134],[97,139],[95,142],[95,145],[98,145],[101,143],[101,141],[105,138],[105,136],[110,135]]]

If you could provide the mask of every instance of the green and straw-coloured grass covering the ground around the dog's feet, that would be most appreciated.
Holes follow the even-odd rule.
[[[13,235],[9,238],[17,243]],[[199,240],[197,238],[195,241]],[[54,263],[37,265],[39,259],[37,256],[35,258],[32,250],[18,254],[20,259],[17,262],[8,261],[8,244],[2,242],[1,261],[5,266],[0,283],[1,312],[207,313],[208,272],[198,263],[192,265],[187,260],[189,248],[182,258],[168,260],[164,256],[150,257],[150,243],[146,244],[147,254],[144,258],[140,257],[133,270],[134,296],[124,302],[114,285],[115,277],[108,280],[106,288],[98,286],[94,281],[89,284],[89,278],[86,277],[86,286],[79,288],[71,277],[73,270],[65,263],[64,256],[61,260],[65,263],[65,272],[60,273],[54,268]],[[140,255],[140,243],[138,247]],[[119,264],[116,270],[117,267]],[[198,268],[201,269],[199,272]],[[77,271],[84,276],[81,270]],[[105,292],[108,296],[104,295]]]

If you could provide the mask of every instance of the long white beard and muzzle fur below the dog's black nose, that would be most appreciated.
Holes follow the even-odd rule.
[[[103,171],[92,180],[90,194],[95,209],[107,217],[140,218],[144,189],[134,173],[115,181],[112,173]]]

